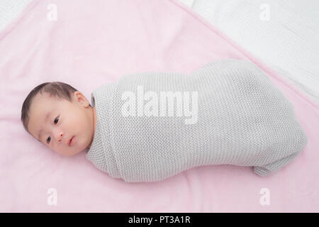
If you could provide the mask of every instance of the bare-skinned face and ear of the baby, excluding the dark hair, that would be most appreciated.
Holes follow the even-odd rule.
[[[46,92],[38,93],[33,98],[29,116],[31,135],[61,155],[76,155],[91,146],[96,111],[81,92],[74,92],[72,102]]]

